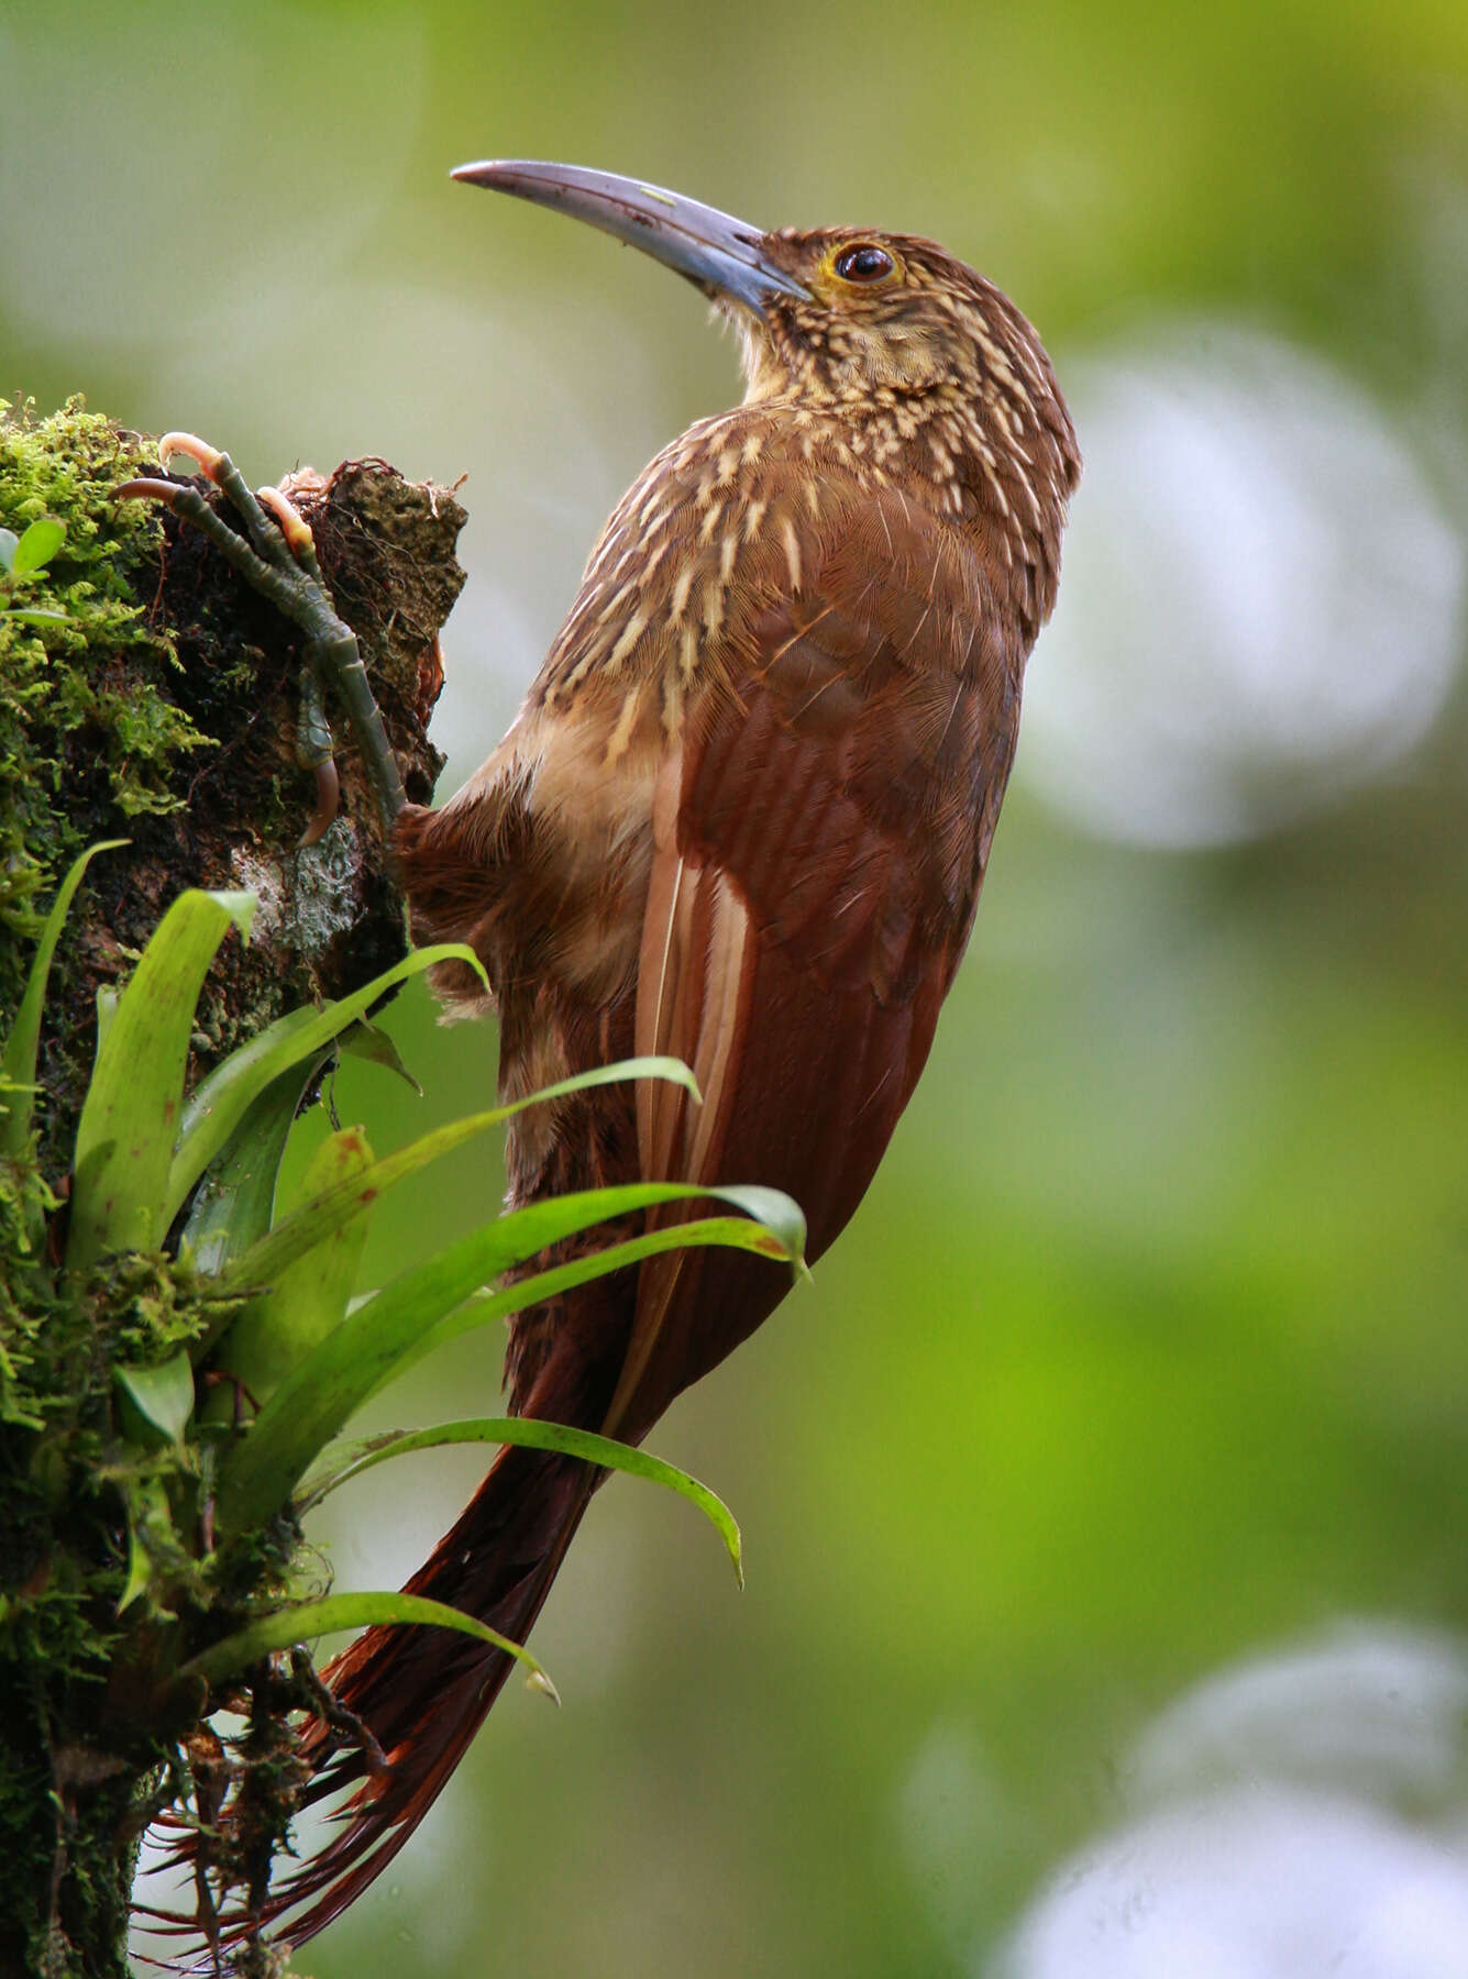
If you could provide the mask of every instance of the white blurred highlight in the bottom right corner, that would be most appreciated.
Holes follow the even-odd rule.
[[[1161,1712],[1112,1833],[975,1979],[1460,1979],[1468,1658],[1403,1627],[1250,1658]]]

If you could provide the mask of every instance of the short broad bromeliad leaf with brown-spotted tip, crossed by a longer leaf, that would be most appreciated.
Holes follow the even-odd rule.
[[[370,1162],[372,1148],[362,1128],[344,1128],[317,1148],[303,1185],[321,1189],[336,1176],[360,1174]],[[366,1231],[366,1217],[332,1229],[229,1326],[218,1364],[237,1375],[255,1401],[267,1401],[346,1318]]]

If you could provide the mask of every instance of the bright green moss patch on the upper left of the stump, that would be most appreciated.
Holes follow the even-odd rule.
[[[36,932],[36,898],[97,815],[111,811],[115,829],[119,813],[176,809],[180,756],[206,742],[166,691],[172,643],[148,625],[158,513],[113,499],[146,471],[140,441],[81,398],[49,418],[0,400],[0,526],[65,524],[24,598],[65,617],[34,625],[0,613],[0,1007],[20,993],[6,980],[18,944],[4,936]]]

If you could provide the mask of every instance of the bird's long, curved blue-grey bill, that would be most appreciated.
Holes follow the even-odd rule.
[[[534,158],[461,164],[449,176],[588,220],[603,234],[675,267],[714,301],[732,297],[764,315],[766,303],[776,295],[809,297],[801,281],[770,259],[758,228],[720,214],[716,206],[685,200],[681,192],[643,186],[641,180],[619,178],[615,172],[542,164]]]

